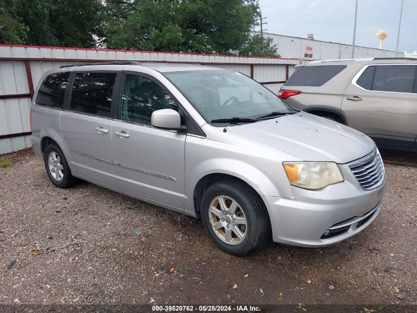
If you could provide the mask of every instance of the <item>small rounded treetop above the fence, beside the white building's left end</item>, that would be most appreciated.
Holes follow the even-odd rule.
[[[272,38],[262,37],[261,34],[251,36],[239,50],[239,55],[280,57],[277,46],[272,45]]]

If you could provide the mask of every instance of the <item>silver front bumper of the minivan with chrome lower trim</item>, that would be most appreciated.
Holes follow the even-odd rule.
[[[273,241],[323,247],[353,236],[378,216],[385,184],[386,176],[378,188],[366,191],[355,179],[347,179],[316,191],[294,187],[295,199],[263,196]]]

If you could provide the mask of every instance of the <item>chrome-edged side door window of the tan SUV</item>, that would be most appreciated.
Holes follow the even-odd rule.
[[[415,76],[415,65],[373,65],[356,84],[367,90],[416,93]]]

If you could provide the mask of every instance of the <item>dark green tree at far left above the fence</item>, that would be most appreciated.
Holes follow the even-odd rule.
[[[4,3],[3,3],[4,2]],[[100,0],[2,0],[0,41],[94,47],[102,36]]]

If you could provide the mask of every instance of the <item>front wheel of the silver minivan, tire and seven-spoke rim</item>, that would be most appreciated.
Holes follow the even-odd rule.
[[[201,200],[201,219],[216,245],[235,256],[247,256],[265,245],[270,222],[264,203],[243,182],[222,180]]]

